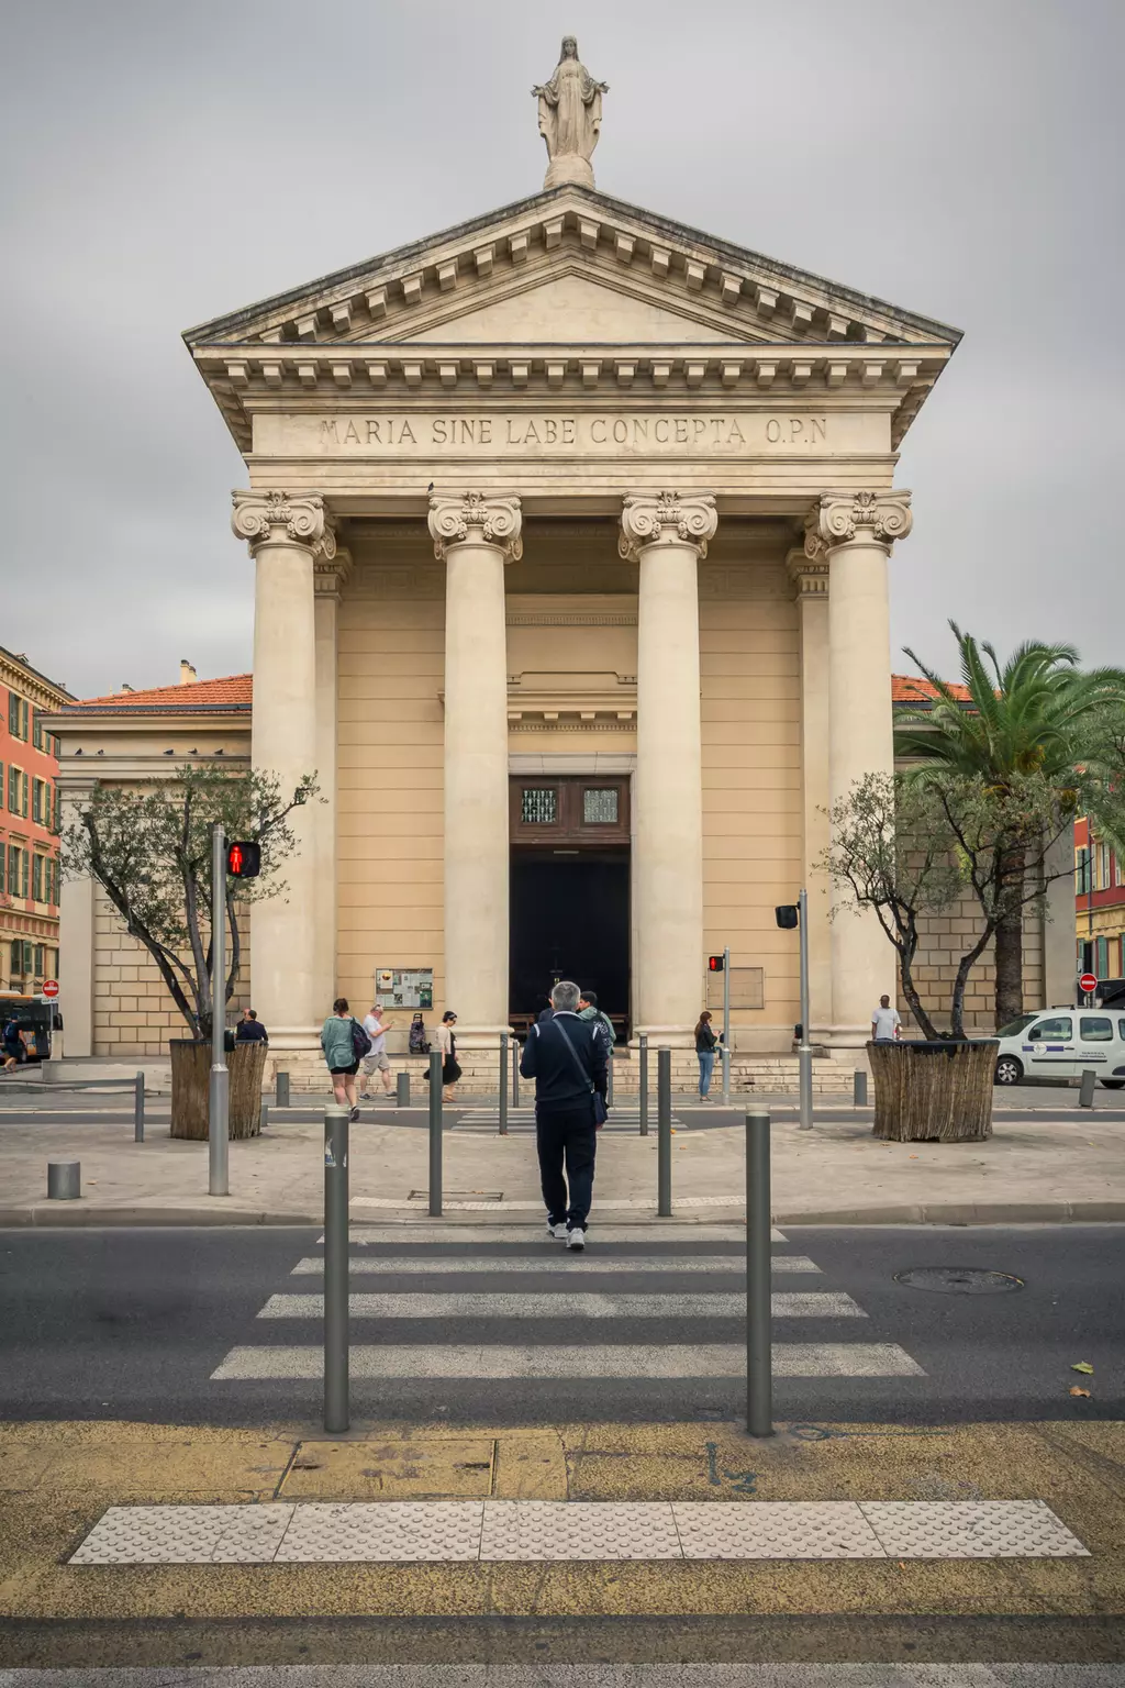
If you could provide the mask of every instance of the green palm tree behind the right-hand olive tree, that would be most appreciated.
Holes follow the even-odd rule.
[[[1020,775],[1039,775],[1071,792],[1079,783],[1079,765],[1088,763],[1095,729],[1108,706],[1125,701],[1122,668],[1078,667],[1073,645],[1017,647],[1005,663],[988,643],[977,643],[950,621],[958,643],[961,685],[951,687],[909,648],[906,655],[934,689],[928,707],[899,712],[896,753],[934,763],[966,778],[982,778],[1007,793]],[[1004,851],[1002,869],[1014,888],[1024,886],[1031,841],[1014,834]],[[997,1026],[1024,1009],[1024,920],[1022,895],[1012,896],[995,939]]]

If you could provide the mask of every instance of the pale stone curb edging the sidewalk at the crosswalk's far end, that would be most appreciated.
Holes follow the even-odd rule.
[[[221,1198],[216,1198],[221,1200]],[[526,1222],[533,1229],[538,1220],[521,1209],[519,1214],[504,1210],[503,1204],[489,1209],[498,1219],[508,1222]],[[651,1224],[654,1212],[634,1209],[632,1214],[614,1214],[612,1224]],[[462,1215],[450,1209],[444,1215],[444,1224],[457,1224]],[[729,1210],[710,1209],[707,1217],[693,1212],[675,1215],[670,1227],[695,1229],[710,1224],[732,1224],[742,1220],[742,1209],[732,1202]],[[100,1207],[79,1202],[34,1202],[24,1207],[0,1207],[0,1229],[27,1227],[83,1227],[83,1225],[320,1225],[320,1212],[275,1212],[250,1207]],[[464,1214],[464,1222],[479,1225],[481,1212]],[[1122,1202],[923,1202],[923,1204],[885,1204],[882,1207],[825,1207],[788,1210],[779,1209],[772,1215],[774,1225],[1110,1225],[1125,1224],[1125,1200]],[[364,1224],[417,1224],[425,1232],[430,1217],[417,1209],[386,1209],[371,1219],[356,1219],[353,1225]]]

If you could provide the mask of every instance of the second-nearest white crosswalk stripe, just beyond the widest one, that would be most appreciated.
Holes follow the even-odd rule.
[[[573,1290],[572,1283],[573,1274],[570,1283],[560,1281],[550,1295],[519,1290],[481,1295],[359,1291],[347,1296],[347,1313],[351,1318],[746,1318],[746,1293],[739,1291],[600,1295]],[[774,1318],[867,1318],[864,1308],[840,1290],[774,1295],[771,1312]],[[324,1296],[272,1295],[258,1318],[324,1318]]]

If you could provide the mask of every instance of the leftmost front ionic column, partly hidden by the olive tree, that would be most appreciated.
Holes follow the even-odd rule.
[[[314,562],[336,555],[315,493],[234,493],[231,527],[255,559],[255,701],[251,765],[277,775],[288,797],[317,760]],[[287,890],[251,905],[253,1006],[273,1050],[312,1048],[331,1009],[319,994],[315,803],[295,810],[297,851],[282,869]]]

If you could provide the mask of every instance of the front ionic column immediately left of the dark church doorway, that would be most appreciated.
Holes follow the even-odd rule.
[[[445,994],[464,1048],[508,1025],[508,631],[518,498],[430,500],[445,562]],[[437,1004],[435,1004],[437,1006]]]

